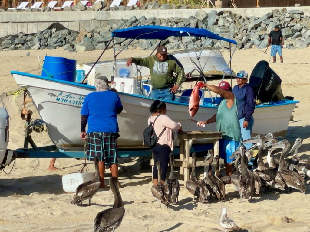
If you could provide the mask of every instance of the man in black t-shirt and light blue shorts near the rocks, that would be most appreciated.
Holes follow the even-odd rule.
[[[284,45],[284,42],[281,30],[278,25],[274,26],[274,30],[270,32],[267,46],[269,46],[270,41],[272,41],[270,55],[272,56],[273,63],[276,62],[277,53],[280,56],[281,63],[283,63],[282,46]]]

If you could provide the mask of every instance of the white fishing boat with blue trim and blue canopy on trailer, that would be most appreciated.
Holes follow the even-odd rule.
[[[116,30],[113,34],[113,38],[136,39],[139,37],[148,39],[156,37],[161,40],[169,36],[199,36],[237,44],[235,41],[224,39],[205,29],[197,28],[141,26]],[[201,65],[199,64],[199,66]],[[119,148],[141,148],[143,146],[143,130],[147,127],[147,119],[150,115],[149,108],[154,99],[149,98],[149,92],[144,91],[141,79],[137,78],[139,72],[136,66],[129,68],[131,78],[122,78],[118,75],[119,68],[124,67],[126,68],[124,62],[115,62],[113,65],[115,72],[112,73],[124,108],[122,113],[118,115],[120,138],[117,140],[117,145]],[[227,68],[228,65],[226,70]],[[199,71],[200,74],[202,74],[201,70]],[[263,74],[266,73],[264,70]],[[225,73],[226,71],[224,71],[224,75]],[[11,74],[20,87],[27,89],[27,94],[32,98],[41,119],[46,122],[51,141],[65,151],[83,151],[84,145],[80,138],[80,112],[86,95],[94,91],[95,87],[17,71],[11,71]],[[265,94],[263,91],[269,91],[269,88],[276,87],[275,91],[281,89],[277,83],[274,83],[274,79],[276,78],[273,78],[273,75],[270,80],[264,79],[268,86],[264,86],[261,94]],[[261,86],[257,82],[259,77],[255,76],[253,80]],[[271,93],[274,97],[275,91],[272,90],[267,93]],[[186,97],[184,92],[183,95],[177,96],[175,101],[166,101],[167,115],[172,120],[180,122],[183,131],[216,131],[215,123],[201,128],[187,120],[189,118],[188,101],[189,97]],[[193,119],[206,120],[210,118],[216,114],[218,107],[215,105],[219,102],[220,98],[204,97],[204,92],[202,92],[199,111]],[[285,136],[290,117],[297,103],[298,101],[281,100],[255,106],[253,134],[272,132],[276,135]]]

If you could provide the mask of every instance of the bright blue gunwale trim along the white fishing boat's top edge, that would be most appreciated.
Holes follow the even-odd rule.
[[[63,83],[63,84],[69,84],[69,85],[73,85],[73,86],[77,86],[77,87],[89,88],[92,90],[95,89],[95,86],[91,86],[91,85],[87,85],[87,84],[80,84],[80,83],[75,83],[75,82],[70,82],[70,81],[52,79],[49,77],[34,75],[34,74],[26,73],[26,72],[11,71],[10,73],[11,73],[11,75],[17,74],[17,75],[29,76],[29,77],[33,77],[33,78],[38,78],[38,79],[43,79],[43,80],[48,80],[48,81],[54,81],[54,82]],[[144,97],[144,96],[140,96],[140,95],[136,95],[136,94],[130,94],[130,93],[118,92],[118,94],[125,95],[125,96],[131,96],[131,97],[139,97],[139,98],[143,98],[143,99],[155,100],[155,99],[150,98],[150,97]],[[174,105],[188,105],[188,103],[177,102],[177,101],[165,101],[165,102],[170,103],[170,104],[174,104]],[[256,107],[258,107],[258,108],[260,108],[260,107],[271,107],[271,106],[280,106],[280,105],[289,105],[289,104],[299,103],[299,101],[286,100],[286,99],[281,100],[280,102],[281,103],[270,104],[270,105],[256,105],[255,108]],[[200,105],[199,107],[218,108],[218,106],[214,106],[214,105]]]

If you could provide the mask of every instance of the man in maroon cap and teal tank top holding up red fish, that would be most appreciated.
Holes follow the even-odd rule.
[[[232,165],[230,163],[233,160],[229,159],[229,157],[238,148],[241,138],[237,106],[238,100],[232,93],[230,84],[226,81],[219,83],[219,87],[202,82],[198,83],[197,86],[199,88],[206,87],[212,92],[219,94],[223,99],[219,104],[217,113],[206,121],[197,122],[197,125],[202,127],[202,125],[215,122],[217,131],[225,132],[219,141],[219,154],[224,159],[226,174],[230,176],[232,174]]]

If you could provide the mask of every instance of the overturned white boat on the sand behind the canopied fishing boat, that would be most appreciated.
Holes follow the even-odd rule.
[[[193,64],[190,60],[190,58],[192,58],[193,60],[196,59],[195,51],[191,50],[188,51],[188,53],[185,51],[177,51],[177,52],[172,51],[170,54],[172,54],[175,58],[177,58],[179,62],[183,65],[185,74],[191,72],[192,76],[199,75],[199,72],[197,70],[193,71]],[[225,61],[220,51],[205,48],[204,50],[202,50],[199,60],[202,64],[202,70],[204,75],[206,76],[224,75],[225,70],[227,68],[227,62]],[[85,72],[88,73],[91,67],[93,67],[93,69],[88,75],[87,84],[94,85],[96,77],[105,75],[108,78],[110,78],[113,75],[114,62],[115,62],[114,60],[97,62],[94,67],[93,67],[94,62],[77,64],[77,70],[85,70]],[[150,75],[149,69],[142,66],[138,66],[138,69],[141,72],[141,77],[140,75],[138,75],[138,78],[142,78],[143,81],[146,81]],[[232,75],[232,77],[236,76],[236,74],[233,71],[231,71],[231,69],[228,67],[226,75],[230,74]]]

